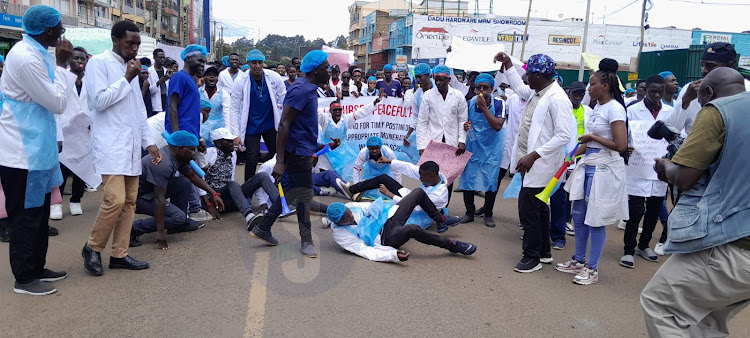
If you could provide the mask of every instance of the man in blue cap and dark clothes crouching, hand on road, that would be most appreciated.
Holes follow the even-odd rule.
[[[166,250],[167,231],[173,234],[203,227],[203,224],[187,217],[188,198],[193,184],[211,195],[211,203],[216,205],[216,210],[224,211],[224,201],[219,193],[190,168],[190,160],[195,156],[198,144],[197,136],[179,130],[172,133],[167,145],[161,148],[161,163],[154,164],[150,154],[141,159],[142,173],[135,212],[153,217],[133,222],[131,247],[141,245],[138,236],[156,232],[156,243]],[[180,176],[175,177],[177,171]],[[167,198],[170,203],[167,203]]]

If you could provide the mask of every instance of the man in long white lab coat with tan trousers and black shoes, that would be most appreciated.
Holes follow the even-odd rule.
[[[141,149],[146,148],[155,164],[161,153],[149,134],[146,107],[136,77],[140,62],[135,59],[141,36],[129,21],[112,26],[112,50],[89,60],[86,87],[92,109],[92,141],[96,171],[102,175],[104,198],[88,242],[83,246],[86,270],[101,276],[100,253],[112,235],[110,269],[141,270],[148,263],[128,256],[130,229],[138,197]],[[157,233],[164,240],[166,232]]]

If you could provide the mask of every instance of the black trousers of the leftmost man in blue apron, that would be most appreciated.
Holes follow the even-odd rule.
[[[29,171],[0,166],[0,180],[5,192],[10,235],[10,268],[21,284],[39,279],[44,272],[49,237],[50,194],[37,208],[24,208],[26,177]]]

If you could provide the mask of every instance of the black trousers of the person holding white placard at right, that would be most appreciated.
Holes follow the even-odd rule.
[[[656,222],[659,221],[659,212],[661,212],[662,205],[664,205],[664,196],[629,196],[628,210],[630,212],[630,219],[625,225],[625,236],[623,238],[626,255],[635,254],[636,244],[641,250],[649,247]],[[641,218],[643,218],[643,232],[641,233],[640,241],[636,241],[636,237],[638,237],[638,224],[641,223]]]

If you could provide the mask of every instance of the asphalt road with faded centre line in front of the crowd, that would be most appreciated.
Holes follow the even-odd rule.
[[[314,215],[319,257],[309,259],[299,252],[296,218],[278,222],[280,245],[267,247],[233,213],[169,235],[168,251],[157,249],[154,235],[142,236],[144,245],[130,254],[148,261],[148,270],[105,265],[104,276],[92,277],[80,253],[101,197],[86,193],[76,217],[66,202],[65,218],[51,223],[60,235],[50,238],[47,266],[68,272],[54,295],[14,294],[10,266],[0,264],[0,336],[638,337],[646,335],[638,297],[661,265],[636,258],[634,270],[620,267],[623,232],[610,228],[595,285],[575,285],[550,265],[513,272],[521,258],[516,200],[498,200],[496,228],[476,222],[444,233],[475,243],[470,257],[409,242],[408,262],[370,262],[339,248]],[[450,211],[463,214],[461,194]],[[6,247],[0,244],[0,262],[8,262]],[[568,237],[564,250],[553,250],[555,262],[573,247]],[[744,311],[732,321],[733,336],[750,336],[748,319]]]

